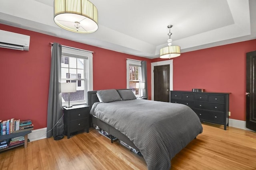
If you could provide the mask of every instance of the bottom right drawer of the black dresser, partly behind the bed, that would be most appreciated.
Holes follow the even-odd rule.
[[[224,124],[224,114],[220,112],[193,109],[198,115],[201,121],[207,121],[211,123]]]

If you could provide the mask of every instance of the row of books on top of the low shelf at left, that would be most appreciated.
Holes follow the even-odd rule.
[[[20,121],[20,119],[15,120],[14,118],[5,121],[0,120],[0,135],[31,131],[33,128],[34,125],[31,120]]]

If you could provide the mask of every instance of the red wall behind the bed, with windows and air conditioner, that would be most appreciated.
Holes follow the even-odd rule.
[[[50,42],[94,51],[94,90],[126,88],[126,58],[147,61],[148,92],[150,59],[127,55],[74,41],[0,24],[0,29],[30,35],[29,51],[0,48],[0,120],[31,119],[34,129],[46,127],[50,78]],[[86,38],[86,35],[82,35]],[[149,93],[149,98],[151,94]]]

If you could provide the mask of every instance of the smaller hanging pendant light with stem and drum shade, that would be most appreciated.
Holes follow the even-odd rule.
[[[171,27],[172,27],[172,25],[167,26],[167,28],[169,28],[169,33],[167,34],[167,35],[169,35],[169,39],[167,40],[169,46],[160,49],[160,58],[161,59],[170,59],[170,58],[180,56],[180,46],[171,46],[172,45]]]

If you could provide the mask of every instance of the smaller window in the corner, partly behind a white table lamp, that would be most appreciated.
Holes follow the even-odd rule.
[[[132,89],[135,96],[142,96],[142,90],[136,88],[136,83],[141,82],[142,73],[141,73],[141,62],[127,59],[126,61],[127,68],[127,88]]]

